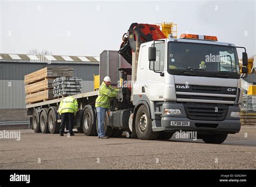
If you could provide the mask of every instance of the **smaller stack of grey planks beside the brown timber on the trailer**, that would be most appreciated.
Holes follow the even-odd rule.
[[[78,77],[58,77],[53,83],[54,97],[64,97],[82,93],[82,78]]]

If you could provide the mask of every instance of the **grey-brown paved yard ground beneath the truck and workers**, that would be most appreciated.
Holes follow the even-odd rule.
[[[256,169],[256,126],[221,145],[20,131],[20,141],[0,139],[0,169]]]

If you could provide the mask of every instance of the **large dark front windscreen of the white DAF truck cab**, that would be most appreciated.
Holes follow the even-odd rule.
[[[167,69],[178,74],[188,70],[239,73],[237,50],[232,46],[169,42]]]

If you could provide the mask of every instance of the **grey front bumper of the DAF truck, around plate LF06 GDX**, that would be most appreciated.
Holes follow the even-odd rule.
[[[219,107],[219,110],[222,112],[226,112],[225,116],[223,116],[222,120],[209,120],[202,119],[202,116],[199,116],[201,119],[190,119],[186,111],[186,105],[182,103],[176,102],[165,102],[163,104],[164,109],[179,109],[181,111],[180,115],[172,116],[162,113],[159,122],[156,123],[156,126],[153,127],[153,131],[171,131],[176,132],[177,130],[184,130],[184,131],[200,131],[201,133],[228,133],[234,134],[238,133],[241,128],[240,118],[233,118],[231,117],[231,112],[240,112],[239,105],[218,105],[218,104],[207,104],[207,103],[194,103],[190,104],[193,107],[200,107],[199,111],[204,110],[213,110],[215,107]],[[190,108],[191,109],[191,108]],[[192,109],[193,110],[193,109]],[[197,111],[196,111],[197,112]],[[209,114],[211,115],[211,113]],[[161,121],[161,122],[160,122]],[[182,126],[182,125],[171,125],[171,121],[189,121],[189,126]]]

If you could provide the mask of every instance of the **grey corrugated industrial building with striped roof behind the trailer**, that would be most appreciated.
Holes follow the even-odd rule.
[[[93,91],[93,75],[99,74],[99,57],[0,54],[0,109],[25,109],[24,76],[44,67],[73,68],[83,80],[82,92]]]

